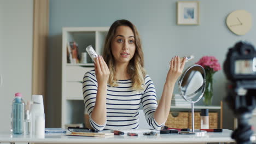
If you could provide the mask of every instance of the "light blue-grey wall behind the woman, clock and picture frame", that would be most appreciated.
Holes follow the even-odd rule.
[[[176,0],[141,1],[84,1],[50,0],[49,29],[49,77],[48,97],[50,105],[61,103],[61,33],[62,27],[106,27],[115,20],[133,22],[141,34],[145,67],[152,77],[158,99],[164,86],[168,61],[175,55],[193,54],[194,62],[202,56],[216,56],[223,64],[230,46],[238,40],[249,40],[256,45],[256,27],[246,35],[231,33],[225,25],[226,16],[233,10],[245,9],[256,15],[254,0],[202,0],[200,1],[200,25],[176,25]],[[187,65],[193,64],[192,62]],[[223,71],[214,75],[213,104],[225,97],[226,79]],[[177,92],[177,86],[175,88]],[[201,103],[201,102],[200,102]],[[60,106],[50,115],[60,115]],[[231,112],[230,112],[231,113]],[[59,124],[55,119],[55,124]]]

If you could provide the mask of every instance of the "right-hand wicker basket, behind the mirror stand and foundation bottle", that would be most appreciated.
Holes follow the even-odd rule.
[[[201,129],[201,116],[200,112],[194,113],[194,128]],[[192,115],[189,112],[189,128],[192,129]],[[209,128],[217,129],[218,128],[218,113],[217,112],[209,112]]]

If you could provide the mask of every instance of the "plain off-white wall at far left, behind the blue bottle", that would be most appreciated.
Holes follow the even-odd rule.
[[[0,131],[10,129],[11,102],[32,91],[33,0],[0,0]]]

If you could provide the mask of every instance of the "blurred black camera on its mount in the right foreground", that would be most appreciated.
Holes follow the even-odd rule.
[[[224,61],[224,73],[231,81],[225,101],[238,122],[231,137],[237,143],[251,143],[253,131],[248,121],[256,105],[256,51],[253,45],[240,41],[231,47]]]

